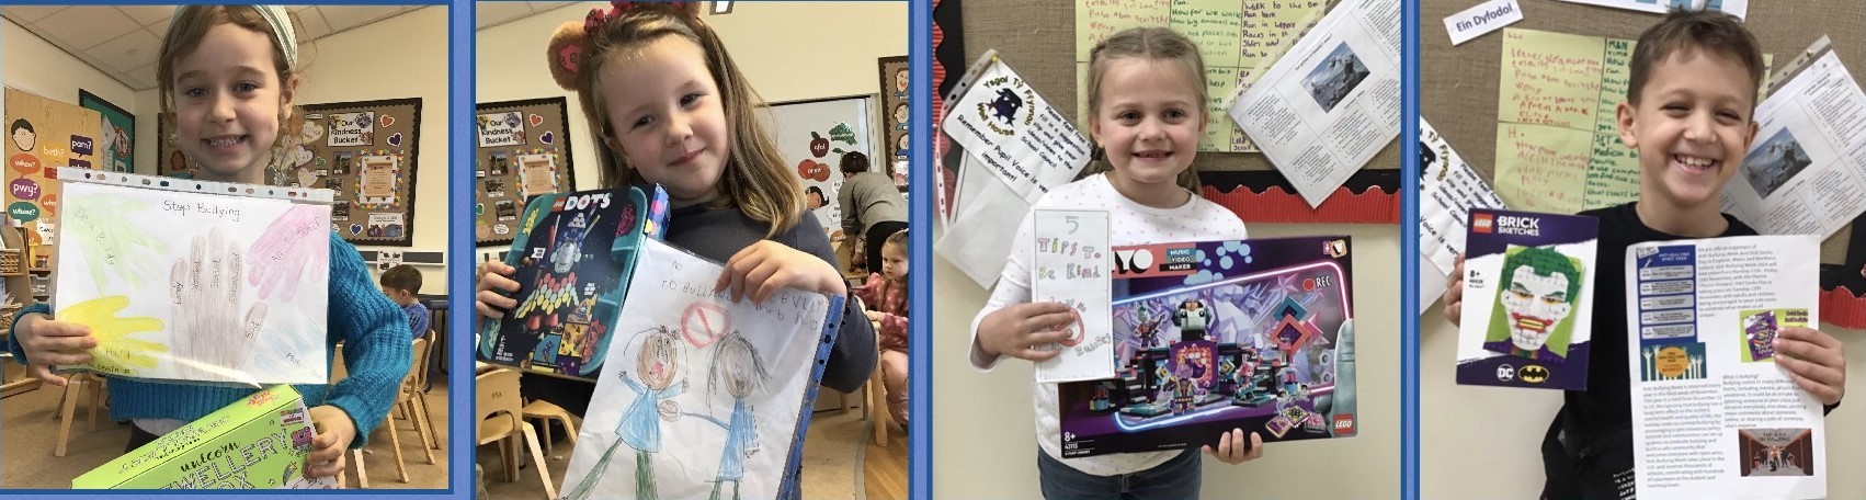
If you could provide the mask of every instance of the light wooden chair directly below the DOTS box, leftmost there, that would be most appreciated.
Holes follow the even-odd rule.
[[[506,466],[506,481],[519,479],[519,442],[515,438],[524,437],[524,446],[532,451],[532,463],[537,465],[537,479],[545,483],[545,498],[558,498],[558,489],[550,485],[550,468],[545,463],[543,451],[537,450],[537,431],[532,429],[530,422],[524,422],[524,409],[519,397],[519,371],[513,369],[494,369],[474,377],[476,409],[480,422],[480,446],[498,442],[500,461]]]

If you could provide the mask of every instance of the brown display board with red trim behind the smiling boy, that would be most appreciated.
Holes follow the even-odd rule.
[[[1442,22],[1444,17],[1476,4],[1467,0],[1420,2],[1418,108],[1420,118],[1429,121],[1470,168],[1495,185],[1504,30],[1452,47]],[[1510,28],[1608,39],[1638,39],[1642,30],[1663,19],[1657,13],[1566,2],[1519,4],[1523,21],[1510,24]],[[1745,26],[1756,34],[1762,50],[1773,56],[1771,71],[1782,69],[1788,60],[1793,60],[1816,39],[1829,35],[1832,50],[1853,73],[1853,78],[1860,80],[1860,75],[1866,75],[1862,73],[1866,71],[1866,6],[1859,2],[1750,2]],[[1855,226],[1859,226],[1857,222]],[[1866,293],[1866,276],[1860,274],[1866,267],[1866,243],[1851,244],[1855,256],[1849,256],[1849,243],[1857,235],[1866,235],[1866,231],[1844,228],[1821,244],[1823,289]],[[1849,300],[1857,299],[1853,293],[1845,295]],[[1821,319],[1849,328],[1866,326],[1866,300],[1840,306],[1829,302],[1832,299],[1838,295],[1823,295]]]

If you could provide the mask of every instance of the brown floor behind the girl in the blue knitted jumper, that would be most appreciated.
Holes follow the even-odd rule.
[[[58,446],[58,399],[63,388],[41,384],[37,390],[7,396],[0,399],[0,487],[4,489],[69,489],[71,478],[97,468],[123,453],[129,442],[129,424],[110,422],[108,409],[97,412],[97,431],[86,420],[90,397],[80,399],[77,418],[71,424],[71,442],[63,457],[54,457]],[[390,453],[386,429],[377,429],[364,448],[364,470],[369,474],[371,489],[446,489],[448,470],[448,386],[446,377],[435,375],[435,388],[427,392],[427,407],[433,412],[435,431],[440,433],[440,448],[433,450],[435,465],[427,465],[420,448],[420,435],[407,420],[394,420],[399,429],[401,455],[409,468],[409,481],[403,483],[396,472],[396,455]],[[355,459],[355,455],[351,455]],[[343,476],[349,487],[356,487],[356,466]]]

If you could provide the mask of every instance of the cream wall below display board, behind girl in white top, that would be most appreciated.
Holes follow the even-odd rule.
[[[1250,235],[1353,237],[1360,435],[1273,442],[1263,459],[1239,466],[1205,459],[1204,498],[1398,498],[1398,226],[1252,224]],[[1006,360],[991,373],[972,369],[967,328],[989,293],[946,259],[933,259],[939,295],[933,300],[933,494],[1036,498],[1036,453],[1041,451],[1030,409],[1030,364]]]

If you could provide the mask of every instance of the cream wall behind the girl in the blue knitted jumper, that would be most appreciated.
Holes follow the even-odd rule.
[[[448,7],[429,6],[299,47],[299,104],[422,99],[412,246],[362,250],[446,252],[448,243]],[[13,49],[7,47],[7,54]],[[155,90],[136,93],[136,172],[155,174]],[[424,265],[422,291],[446,293],[446,269]]]

